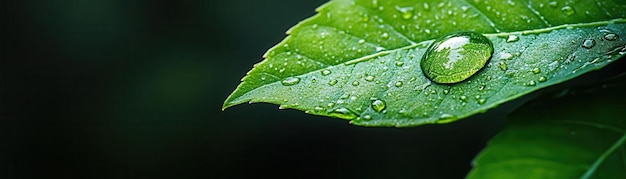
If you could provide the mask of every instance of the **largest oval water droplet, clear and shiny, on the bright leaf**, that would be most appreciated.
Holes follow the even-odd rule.
[[[475,32],[453,33],[433,42],[420,66],[435,83],[458,83],[480,71],[493,54],[493,44]]]

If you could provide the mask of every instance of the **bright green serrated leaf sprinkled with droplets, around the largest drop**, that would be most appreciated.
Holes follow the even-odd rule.
[[[624,1],[531,2],[330,1],[290,29],[223,108],[267,102],[364,126],[445,123],[624,55]],[[420,69],[426,47],[459,31],[487,36],[491,60],[466,81],[431,82]]]

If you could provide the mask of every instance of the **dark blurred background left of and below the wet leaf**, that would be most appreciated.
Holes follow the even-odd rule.
[[[0,178],[462,178],[502,125],[221,111],[324,0],[4,1]]]

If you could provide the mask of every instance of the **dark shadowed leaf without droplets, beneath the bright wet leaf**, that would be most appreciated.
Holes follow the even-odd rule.
[[[468,178],[626,178],[624,79],[519,109]]]

